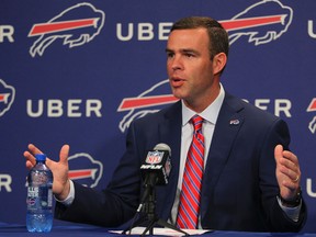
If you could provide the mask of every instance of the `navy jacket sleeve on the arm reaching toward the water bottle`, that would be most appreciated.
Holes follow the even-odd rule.
[[[127,133],[126,151],[106,189],[98,191],[74,182],[72,204],[65,206],[56,203],[55,217],[106,227],[122,225],[132,218],[140,193],[139,157],[132,124]]]

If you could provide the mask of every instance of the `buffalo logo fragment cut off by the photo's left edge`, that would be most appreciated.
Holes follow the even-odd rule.
[[[15,89],[0,79],[0,116],[10,110],[14,102]]]

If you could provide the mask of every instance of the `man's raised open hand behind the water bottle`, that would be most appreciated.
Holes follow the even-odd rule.
[[[35,155],[43,153],[33,144],[30,144],[27,148],[29,150],[25,150],[23,155],[26,158],[26,168],[31,169],[36,163]],[[69,146],[64,145],[59,153],[58,162],[46,158],[46,166],[52,170],[54,177],[53,193],[56,199],[60,201],[65,200],[70,191],[70,183],[68,178],[68,154]]]

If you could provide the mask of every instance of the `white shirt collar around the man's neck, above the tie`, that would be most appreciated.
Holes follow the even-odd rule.
[[[215,125],[221,106],[223,104],[224,98],[225,98],[225,90],[222,83],[219,83],[221,90],[217,98],[211,103],[204,111],[199,113],[200,116],[202,116],[205,121],[212,123]],[[184,126],[194,116],[196,113],[189,109],[183,100],[181,101],[182,103],[182,126]]]

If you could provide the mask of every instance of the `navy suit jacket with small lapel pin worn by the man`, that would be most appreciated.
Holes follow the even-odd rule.
[[[156,213],[170,217],[181,146],[181,102],[134,121],[126,151],[102,192],[75,183],[76,198],[56,205],[56,217],[71,222],[117,226],[131,219],[139,204],[139,167],[157,144],[171,148],[169,183],[156,188]],[[306,219],[303,201],[298,222],[290,219],[276,201],[274,147],[289,149],[287,125],[281,119],[226,93],[215,125],[201,195],[203,228],[249,232],[298,232]]]

